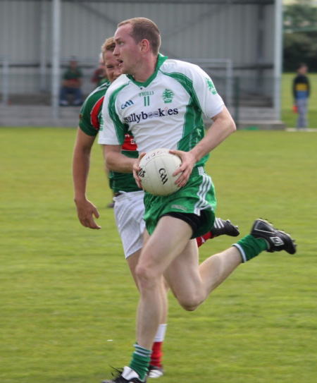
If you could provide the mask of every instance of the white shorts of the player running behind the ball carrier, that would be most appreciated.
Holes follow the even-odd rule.
[[[144,215],[144,192],[130,192],[114,197],[114,215],[117,229],[123,244],[125,258],[130,257],[143,245],[143,233],[145,230]]]

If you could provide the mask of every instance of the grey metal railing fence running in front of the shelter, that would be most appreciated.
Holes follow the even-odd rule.
[[[278,120],[280,111],[276,109],[275,88],[280,89],[280,79],[274,79],[263,75],[234,75],[232,61],[229,59],[195,59],[191,61],[208,73],[213,79],[218,93],[223,97],[226,106],[230,110],[235,121],[247,121],[254,119]],[[69,59],[61,61],[60,73],[68,66]],[[92,75],[97,68],[96,60],[78,58],[78,66],[83,73],[82,94],[87,97],[95,84],[92,83]],[[58,80],[61,85],[61,78]],[[54,107],[54,93],[52,92],[52,69],[51,66],[41,68],[36,63],[13,63],[4,57],[0,59],[0,104],[2,109],[10,106],[34,106],[51,107],[48,111],[52,118],[58,118]],[[55,96],[58,97],[58,94]],[[58,105],[58,99],[55,105]]]

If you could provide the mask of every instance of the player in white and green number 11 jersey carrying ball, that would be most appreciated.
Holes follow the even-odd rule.
[[[147,232],[135,269],[140,300],[137,308],[137,343],[129,366],[106,383],[147,380],[151,346],[164,305],[163,276],[185,310],[195,310],[238,265],[261,251],[295,253],[294,241],[271,224],[258,219],[251,234],[223,253],[199,265],[197,238],[215,219],[216,197],[204,172],[209,152],[235,131],[235,123],[211,78],[198,66],[159,54],[159,29],[149,19],[132,18],[118,24],[113,51],[121,75],[108,88],[102,110],[99,143],[106,165],[128,171],[120,153],[125,134],[133,135],[139,159],[149,150],[168,147],[182,166],[175,175],[180,190],[157,197],[145,193]],[[204,136],[203,114],[213,120]],[[139,184],[138,161],[134,175]],[[140,185],[140,184],[139,184]]]

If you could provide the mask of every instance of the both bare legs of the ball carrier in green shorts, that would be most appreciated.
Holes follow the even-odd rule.
[[[163,312],[163,275],[185,310],[195,310],[242,262],[240,251],[230,248],[213,255],[201,266],[190,226],[180,219],[163,217],[144,246],[137,265],[140,300],[137,341],[151,348]]]

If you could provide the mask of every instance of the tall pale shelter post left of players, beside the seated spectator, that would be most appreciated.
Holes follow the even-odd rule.
[[[53,118],[58,118],[58,104],[59,104],[59,61],[61,51],[61,0],[52,1],[52,58],[51,58],[51,106]]]

